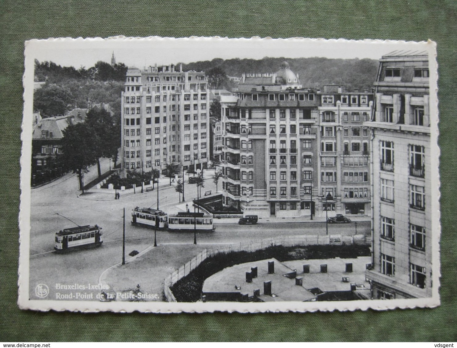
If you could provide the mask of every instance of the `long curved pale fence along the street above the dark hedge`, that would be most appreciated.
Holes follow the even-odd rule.
[[[371,245],[371,237],[358,234],[355,236],[346,236],[341,234],[334,235],[294,235],[294,236],[279,236],[275,238],[265,238],[247,243],[235,243],[217,247],[216,249],[205,249],[201,253],[195,255],[189,262],[182,265],[180,268],[171,273],[164,279],[164,294],[168,302],[176,302],[170,287],[178,280],[188,275],[192,270],[195,270],[209,256],[218,255],[220,253],[230,253],[232,251],[256,251],[267,248],[269,246],[306,246],[306,245],[352,245],[365,244]]]

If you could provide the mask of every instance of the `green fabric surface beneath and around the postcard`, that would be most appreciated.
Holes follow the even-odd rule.
[[[0,341],[457,341],[455,1],[0,1]],[[437,42],[441,306],[282,314],[81,314],[17,301],[24,41],[93,36],[271,36]]]

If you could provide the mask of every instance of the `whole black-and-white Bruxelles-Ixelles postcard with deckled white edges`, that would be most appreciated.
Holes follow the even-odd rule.
[[[440,304],[434,42],[25,46],[21,308]]]

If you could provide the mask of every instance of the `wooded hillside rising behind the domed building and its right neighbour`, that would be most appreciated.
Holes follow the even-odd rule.
[[[291,70],[299,75],[304,88],[322,88],[325,83],[344,84],[350,91],[353,88],[366,89],[373,86],[376,78],[378,61],[374,59],[329,59],[312,58],[270,58],[263,59],[220,59],[211,61],[183,63],[183,69],[204,71],[205,73],[223,71],[227,76],[241,77],[242,73],[275,73],[283,61],[289,63]],[[179,63],[178,63],[179,64]],[[217,76],[218,86],[230,88],[230,83],[221,83],[223,78]]]

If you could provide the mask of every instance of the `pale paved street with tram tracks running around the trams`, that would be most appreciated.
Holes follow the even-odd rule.
[[[101,161],[102,171],[108,170],[108,160]],[[96,167],[92,167],[85,175],[89,182],[97,175]],[[141,252],[154,244],[154,229],[132,225],[130,216],[132,208],[157,208],[157,188],[143,194],[122,197],[119,200],[91,200],[90,197],[78,197],[78,179],[75,174],[51,182],[43,187],[32,190],[31,199],[31,233],[30,233],[30,291],[38,283],[80,283],[98,284],[101,273],[122,260],[122,214],[125,208],[126,258],[133,250]],[[216,192],[213,181],[205,181],[205,191]],[[203,190],[202,190],[203,191]],[[186,203],[191,205],[192,198],[197,196],[196,187],[188,184],[186,179]],[[111,196],[110,196],[111,197]],[[180,211],[178,192],[162,180],[159,188],[159,209],[167,213]],[[74,223],[70,222],[73,221]],[[263,220],[263,221],[262,221]],[[170,257],[170,266],[179,267],[186,262],[186,257],[192,257],[195,252],[205,248],[216,248],[221,244],[249,242],[258,239],[276,237],[279,235],[326,234],[326,224],[321,221],[313,222],[280,222],[271,223],[259,219],[257,225],[238,225],[237,223],[218,223],[215,220],[214,232],[197,232],[197,246],[193,245],[192,232],[169,232],[160,230],[156,233],[158,247],[162,247],[170,255],[176,253],[179,257]],[[367,218],[368,220],[368,218]],[[98,224],[103,228],[103,245],[69,250],[65,254],[54,251],[54,236],[60,229],[77,225]],[[329,224],[329,234],[355,234],[354,223]],[[370,222],[360,221],[357,226],[358,234],[370,234]],[[187,246],[186,246],[187,245]],[[191,255],[186,256],[183,250],[188,249]],[[175,250],[175,253],[173,253]],[[172,260],[173,259],[173,260]],[[166,261],[168,263],[168,260]],[[162,277],[163,279],[163,277]]]

